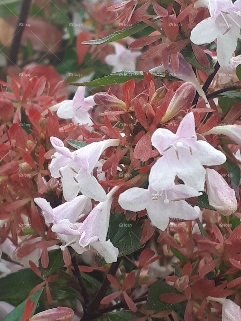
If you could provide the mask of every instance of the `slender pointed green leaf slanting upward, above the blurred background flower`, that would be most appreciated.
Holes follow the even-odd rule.
[[[155,17],[153,19],[150,19],[151,22],[156,22],[160,19],[160,17]],[[102,39],[95,39],[95,40],[87,40],[87,41],[83,41],[82,44],[85,45],[100,45],[102,43],[109,43],[112,41],[116,41],[116,40],[120,40],[126,37],[129,37],[131,35],[133,35],[134,33],[137,33],[138,31],[145,29],[148,27],[148,24],[146,24],[145,22],[137,22],[134,23],[132,26],[126,28],[126,29],[122,29],[119,31],[116,31],[114,33],[112,33],[111,35],[102,38]]]

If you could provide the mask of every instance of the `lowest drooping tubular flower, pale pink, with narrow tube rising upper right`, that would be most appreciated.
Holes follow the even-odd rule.
[[[107,200],[97,204],[83,223],[73,224],[65,219],[53,225],[52,231],[58,235],[74,237],[80,246],[78,253],[83,253],[91,246],[104,257],[107,263],[116,262],[119,250],[114,247],[111,240],[106,241],[106,237],[109,229],[112,195],[118,188],[112,188],[107,195]]]

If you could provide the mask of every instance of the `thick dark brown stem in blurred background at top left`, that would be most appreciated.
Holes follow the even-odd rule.
[[[9,55],[7,57],[7,66],[16,65],[17,63],[18,51],[21,44],[22,34],[25,28],[26,20],[28,18],[30,7],[31,7],[31,0],[22,0],[20,14],[18,17],[15,31],[14,31],[14,36],[13,36],[11,48],[9,51]]]

